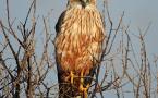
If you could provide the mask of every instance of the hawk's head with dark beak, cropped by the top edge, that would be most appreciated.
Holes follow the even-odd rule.
[[[96,5],[96,0],[69,0],[69,5],[82,5],[82,8],[86,8],[87,5]]]

